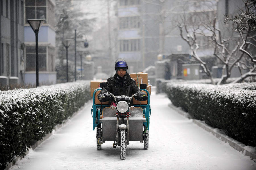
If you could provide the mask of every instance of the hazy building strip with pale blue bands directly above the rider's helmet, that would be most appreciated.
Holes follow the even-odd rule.
[[[118,54],[125,59],[133,71],[143,70],[141,1],[118,1]]]

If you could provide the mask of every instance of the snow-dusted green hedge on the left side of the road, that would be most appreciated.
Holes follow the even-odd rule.
[[[0,167],[22,156],[90,99],[90,82],[0,91]]]

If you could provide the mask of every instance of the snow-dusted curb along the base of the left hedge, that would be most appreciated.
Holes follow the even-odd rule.
[[[87,104],[87,102],[86,102],[86,104]],[[86,104],[85,104],[85,105],[86,105]],[[82,108],[83,108],[83,106],[82,106],[80,109],[82,109]],[[62,122],[62,124],[57,124],[57,125],[55,125],[54,128],[52,129],[51,133],[48,133],[45,137],[43,137],[42,140],[37,141],[34,145],[30,146],[30,148],[29,148],[28,150],[26,150],[26,153],[25,153],[24,156],[26,156],[26,155],[28,154],[28,151],[29,151],[30,149],[34,150],[34,149],[35,149],[37,146],[39,146],[42,142],[44,142],[44,141],[45,141],[46,139],[48,139],[51,135],[53,135],[54,132],[57,131],[57,129],[59,129],[59,128],[63,127],[65,124],[67,124],[68,120],[71,119],[71,118],[73,118],[75,115],[77,115],[78,112],[80,111],[80,109],[79,109],[78,111],[76,111],[74,114],[72,114],[72,116],[70,116],[69,118],[67,118],[64,122]],[[18,162],[19,160],[21,160],[22,158],[24,158],[24,156],[14,156],[12,162],[7,163],[7,166],[5,167],[4,170],[8,170],[9,168],[11,168],[13,165],[15,165],[16,162]]]

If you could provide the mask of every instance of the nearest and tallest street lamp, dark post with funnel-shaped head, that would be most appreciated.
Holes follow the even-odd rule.
[[[44,24],[45,21],[47,20],[38,20],[38,19],[33,19],[33,20],[26,20],[30,27],[33,29],[34,33],[36,34],[36,87],[39,86],[39,78],[38,78],[38,32],[40,27]]]

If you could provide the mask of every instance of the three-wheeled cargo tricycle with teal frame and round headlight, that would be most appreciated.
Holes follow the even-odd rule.
[[[149,117],[151,114],[150,95],[146,90],[146,84],[141,84],[140,89],[147,95],[143,101],[131,97],[112,95],[116,105],[109,102],[100,102],[97,95],[106,82],[100,83],[100,88],[94,90],[93,105],[91,109],[93,117],[93,130],[96,129],[96,147],[101,150],[106,141],[113,141],[113,148],[120,146],[120,159],[125,159],[126,147],[130,141],[144,143],[144,149],[148,149],[149,141]]]

